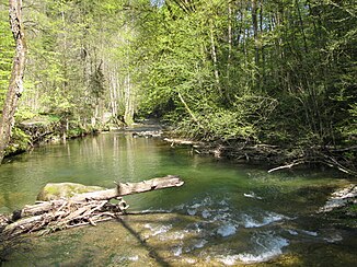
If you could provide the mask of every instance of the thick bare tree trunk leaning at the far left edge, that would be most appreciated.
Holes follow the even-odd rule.
[[[23,74],[25,69],[26,44],[22,24],[22,0],[9,0],[10,25],[15,42],[15,56],[13,58],[12,72],[7,98],[0,119],[0,164],[9,146],[11,129],[14,124],[14,114],[19,98],[23,92]]]

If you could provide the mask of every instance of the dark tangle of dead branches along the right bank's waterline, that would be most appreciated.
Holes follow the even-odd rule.
[[[270,144],[249,144],[247,142],[234,142],[223,144],[220,142],[198,142],[185,139],[163,139],[175,144],[191,146],[198,154],[211,154],[217,159],[232,159],[235,162],[269,163],[277,167],[268,170],[268,173],[289,170],[299,165],[325,165],[338,170],[348,175],[357,175],[357,164],[355,158],[345,154],[356,154],[357,147],[334,148],[334,147],[311,147],[309,149],[281,149]]]

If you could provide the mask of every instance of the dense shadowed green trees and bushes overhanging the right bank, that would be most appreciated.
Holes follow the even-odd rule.
[[[353,1],[166,1],[151,15],[140,40],[148,107],[171,111],[184,131],[284,144],[356,140]]]

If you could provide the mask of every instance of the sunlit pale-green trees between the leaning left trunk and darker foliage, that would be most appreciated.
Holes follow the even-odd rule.
[[[115,1],[28,2],[28,68],[20,112],[56,114],[93,127],[110,113],[131,124],[133,33],[123,9]]]

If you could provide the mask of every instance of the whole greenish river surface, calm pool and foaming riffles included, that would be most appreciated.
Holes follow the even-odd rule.
[[[315,214],[348,181],[311,170],[267,174],[130,134],[11,159],[0,169],[0,212],[33,204],[46,183],[114,187],[168,174],[185,185],[125,198],[129,211],[147,214],[33,237],[5,266],[357,265],[356,229]]]

